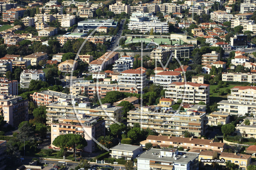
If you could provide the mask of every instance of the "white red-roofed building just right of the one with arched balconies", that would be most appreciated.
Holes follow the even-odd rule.
[[[180,72],[162,71],[155,75],[151,75],[150,80],[153,81],[154,84],[164,86],[164,89],[168,89],[169,84],[173,82],[181,82],[182,78]]]

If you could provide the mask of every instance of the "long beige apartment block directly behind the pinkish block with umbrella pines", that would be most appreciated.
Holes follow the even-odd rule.
[[[77,106],[77,104],[78,106]],[[87,116],[100,116],[105,120],[105,126],[108,128],[111,124],[122,122],[123,107],[111,106],[110,103],[102,106],[93,105],[91,102],[79,103],[78,101],[64,100],[56,104],[46,106],[46,123],[51,124],[60,117],[68,114],[85,114]]]

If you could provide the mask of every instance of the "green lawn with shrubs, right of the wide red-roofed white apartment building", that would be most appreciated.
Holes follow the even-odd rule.
[[[212,89],[216,89],[218,85],[210,85],[210,102],[218,102],[218,101],[221,101],[221,100],[227,100],[228,97],[227,97],[227,93],[226,93],[226,89],[231,89],[233,88],[234,86],[237,86],[237,85],[227,85],[227,87],[222,87],[220,88],[219,90],[222,90],[224,91],[224,94],[223,96],[219,96],[218,94],[218,91],[216,93],[213,93],[212,92]]]

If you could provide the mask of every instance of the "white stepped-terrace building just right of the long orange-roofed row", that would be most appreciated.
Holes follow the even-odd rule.
[[[132,69],[134,58],[132,56],[122,56],[115,61],[113,65],[113,72],[122,72]]]

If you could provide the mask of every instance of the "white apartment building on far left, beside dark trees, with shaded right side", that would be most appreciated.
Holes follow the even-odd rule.
[[[23,70],[20,74],[20,88],[28,88],[31,80],[45,81],[45,73],[42,70]]]

